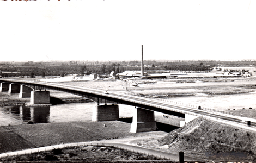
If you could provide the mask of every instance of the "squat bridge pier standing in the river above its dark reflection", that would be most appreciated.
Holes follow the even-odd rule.
[[[49,91],[31,91],[30,104],[50,104]]]

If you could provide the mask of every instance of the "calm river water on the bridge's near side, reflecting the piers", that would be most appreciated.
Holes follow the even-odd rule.
[[[0,126],[34,123],[92,121],[96,103],[67,103],[44,107],[0,107]],[[119,117],[132,117],[133,106],[119,105]]]

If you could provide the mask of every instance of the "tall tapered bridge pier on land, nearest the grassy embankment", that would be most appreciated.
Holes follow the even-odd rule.
[[[131,133],[155,131],[155,113],[154,111],[135,108],[132,116]]]

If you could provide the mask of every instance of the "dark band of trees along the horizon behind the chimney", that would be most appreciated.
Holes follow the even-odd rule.
[[[0,62],[2,77],[65,76],[67,74],[109,74],[126,70],[141,70],[141,61],[50,61],[50,62]],[[216,60],[145,60],[144,71],[209,71],[216,66],[254,66],[256,61],[216,61]]]

